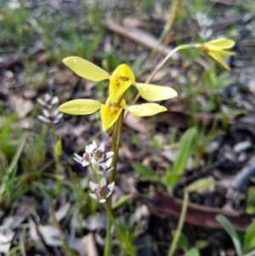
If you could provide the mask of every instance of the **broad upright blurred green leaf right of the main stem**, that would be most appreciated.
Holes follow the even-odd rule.
[[[197,141],[197,129],[189,128],[180,139],[178,152],[173,164],[173,173],[181,175],[184,172],[186,163],[195,148]]]

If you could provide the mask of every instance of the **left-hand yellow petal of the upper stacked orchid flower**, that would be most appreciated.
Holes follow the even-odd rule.
[[[110,77],[110,75],[99,66],[80,57],[67,57],[63,62],[78,76],[84,77],[88,80],[103,81]]]

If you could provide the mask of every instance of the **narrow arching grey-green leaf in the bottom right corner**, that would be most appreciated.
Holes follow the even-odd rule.
[[[235,232],[235,229],[233,225],[229,222],[229,219],[227,219],[224,215],[221,215],[221,214],[218,214],[215,219],[224,227],[224,230],[226,230],[229,236],[232,238],[232,241],[235,246],[235,251],[238,256],[241,256],[240,237]]]

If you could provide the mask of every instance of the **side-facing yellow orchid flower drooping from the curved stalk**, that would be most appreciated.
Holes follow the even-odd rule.
[[[204,54],[214,60],[218,65],[227,71],[230,71],[229,66],[224,62],[224,56],[235,55],[235,52],[226,51],[225,49],[231,48],[235,42],[226,38],[218,38],[207,43],[199,44],[196,48],[201,49]]]

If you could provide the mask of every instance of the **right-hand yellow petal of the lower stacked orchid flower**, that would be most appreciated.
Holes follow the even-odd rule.
[[[130,105],[127,111],[131,112],[136,117],[150,117],[160,112],[167,111],[167,108],[156,103],[144,103],[141,105]]]

